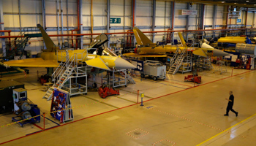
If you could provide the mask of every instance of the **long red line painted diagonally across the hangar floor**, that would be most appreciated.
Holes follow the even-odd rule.
[[[251,71],[248,71],[248,72],[251,72]],[[241,73],[241,74],[245,74],[245,73],[247,73],[247,72],[243,72],[243,73]],[[237,75],[239,75],[239,74],[233,75],[232,77],[237,76]],[[225,78],[220,79],[220,80],[224,80],[224,79],[227,79],[227,78],[230,78],[230,77],[225,77]],[[217,81],[219,81],[219,80],[215,80],[215,81],[212,81],[212,82],[217,82]],[[208,84],[208,83],[211,83],[211,82],[207,82],[206,84]],[[203,84],[203,85],[206,85],[206,84]],[[199,87],[199,86],[201,86],[201,85],[198,85],[198,86],[195,86],[195,87]],[[186,90],[188,90],[188,89],[191,89],[191,88],[187,88],[187,89],[184,89],[184,90],[181,90],[181,91],[186,91]],[[173,92],[173,93],[178,93],[178,92],[181,92],[181,91],[176,91],[176,92]],[[173,94],[173,93],[168,93],[168,94],[166,94],[166,95],[164,95],[164,96],[168,96],[168,95],[171,95],[171,94]],[[154,98],[154,99],[159,99],[159,98],[164,97],[164,96],[159,96],[159,97]],[[153,99],[149,99],[149,100],[147,100],[147,101],[151,101],[151,100],[153,100]],[[144,101],[144,102],[146,102],[146,101]],[[136,104],[137,104],[137,103],[136,103]],[[126,107],[132,107],[132,106],[134,106],[134,105],[136,105],[136,104],[131,104],[131,105],[128,105],[128,106],[126,106]],[[140,103],[138,103],[138,104],[140,104]],[[124,108],[126,108],[126,107],[121,107],[121,108],[118,108],[118,109],[115,109],[115,110],[110,110],[110,111],[108,111],[108,112],[113,112],[113,111],[116,111],[116,110],[121,110],[121,109],[124,109]],[[105,114],[105,113],[108,113],[108,112],[102,112],[102,113],[99,113],[99,114],[97,114],[97,115],[102,115],[102,114]],[[95,116],[97,116],[97,115],[91,115],[91,116],[89,116],[89,117],[82,118],[82,119],[80,119],[80,120],[85,120],[85,119],[87,119],[87,118],[92,118],[92,117],[95,117]],[[72,122],[70,122],[70,123],[75,123],[75,122],[78,122],[78,121],[80,121],[80,120],[75,120],[75,121],[72,121]],[[69,123],[64,123],[63,125],[60,125],[60,126],[65,126],[65,125],[67,125],[67,124],[69,124]],[[59,126],[55,126],[55,127],[52,127],[52,128],[57,128],[57,127],[59,127]],[[45,131],[48,131],[48,130],[50,130],[50,129],[52,129],[52,128],[47,128],[47,129],[45,129]],[[35,132],[34,134],[38,134],[38,133],[40,133],[40,132],[42,132],[42,131]],[[29,134],[29,135],[26,135],[26,136],[23,136],[23,137],[29,137],[29,136],[31,136],[31,135],[33,135],[33,134]],[[17,140],[17,139],[21,139],[21,138],[23,138],[23,137],[18,137],[18,138],[16,138],[16,139],[12,139],[12,140],[7,141],[7,142],[2,142],[2,143],[0,143],[0,145],[5,144],[5,143],[8,143],[8,142],[15,141],[15,140]]]

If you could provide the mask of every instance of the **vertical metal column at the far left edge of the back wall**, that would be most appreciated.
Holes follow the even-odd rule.
[[[0,0],[0,30],[4,31],[4,12],[2,0]],[[0,33],[0,36],[4,36],[4,32]],[[1,39],[0,49],[2,49],[3,56],[6,57],[5,39]]]

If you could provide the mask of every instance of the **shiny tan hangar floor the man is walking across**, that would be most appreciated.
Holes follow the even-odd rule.
[[[191,73],[167,74],[157,81],[137,74],[136,84],[118,88],[120,96],[102,99],[95,91],[72,96],[74,120],[59,123],[49,114],[50,101],[42,99],[37,70],[45,73],[30,69],[26,77],[20,73],[0,79],[25,84],[28,98],[46,112],[45,130],[43,118],[21,128],[10,124],[15,115],[0,115],[0,145],[256,145],[255,71],[227,67],[222,74],[199,72],[200,85],[184,82]],[[143,106],[138,90],[145,94]],[[238,117],[233,112],[224,116],[229,91]]]

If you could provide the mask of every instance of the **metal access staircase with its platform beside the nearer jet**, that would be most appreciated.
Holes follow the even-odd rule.
[[[87,93],[86,66],[83,66],[82,63],[85,56],[82,56],[83,53],[77,53],[69,58],[68,53],[66,54],[66,60],[61,61],[61,64],[59,64],[55,72],[53,72],[52,80],[54,84],[45,93],[43,99],[52,99],[54,88],[68,91],[70,96]],[[79,77],[86,77],[86,83],[84,85],[78,83]]]

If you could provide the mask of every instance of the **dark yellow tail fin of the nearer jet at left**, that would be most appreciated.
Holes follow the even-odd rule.
[[[48,36],[48,34],[45,32],[44,28],[42,28],[42,26],[40,24],[37,24],[37,28],[39,28],[39,30],[41,31],[42,34],[42,38],[44,39],[45,42],[45,46],[46,46],[46,50],[47,52],[53,52],[55,50],[58,50],[59,47],[57,47],[54,43],[53,40],[50,39],[50,37]]]

